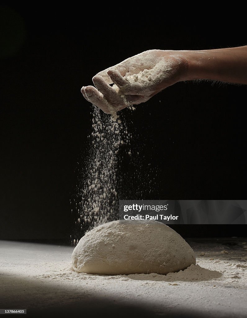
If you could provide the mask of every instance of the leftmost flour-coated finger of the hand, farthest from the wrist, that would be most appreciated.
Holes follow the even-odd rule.
[[[95,87],[83,86],[81,92],[87,101],[102,109],[103,112],[110,114],[108,102],[104,99],[104,96]]]

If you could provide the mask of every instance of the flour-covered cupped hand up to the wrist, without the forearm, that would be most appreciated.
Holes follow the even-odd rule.
[[[99,72],[96,86],[83,86],[83,96],[107,114],[149,100],[164,88],[183,80],[186,59],[179,51],[149,50]],[[109,84],[113,84],[110,86]]]

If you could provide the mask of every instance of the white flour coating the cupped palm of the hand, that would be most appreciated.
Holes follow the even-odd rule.
[[[117,72],[119,76],[121,73],[123,76],[122,85],[113,84],[113,88],[122,99],[122,104],[111,105],[105,99],[114,120],[118,118],[117,112],[120,109],[132,104],[137,105],[146,102],[154,94],[164,89],[168,80],[173,76],[176,66],[179,64],[179,60],[176,57],[172,57],[173,59],[177,59],[176,63],[174,63],[173,59],[154,58],[153,54],[148,55],[148,52],[135,55],[133,58],[130,58],[131,61],[129,61],[130,59],[126,59],[122,63],[109,67],[97,74],[102,76],[108,84],[112,84],[113,82],[108,76],[107,71]],[[122,68],[120,65],[122,65]],[[127,73],[126,69],[128,70]]]

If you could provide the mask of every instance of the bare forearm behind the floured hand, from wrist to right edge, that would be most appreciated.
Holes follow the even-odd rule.
[[[247,84],[247,46],[178,53],[187,64],[182,80],[212,79]]]

